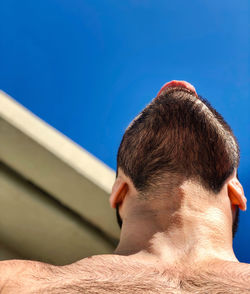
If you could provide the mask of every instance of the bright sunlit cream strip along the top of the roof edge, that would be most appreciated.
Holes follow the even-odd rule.
[[[107,193],[111,192],[115,180],[115,173],[111,168],[2,91],[0,91],[0,117]]]

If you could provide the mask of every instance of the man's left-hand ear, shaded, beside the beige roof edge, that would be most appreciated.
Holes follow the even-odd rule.
[[[122,179],[121,177],[118,177],[115,180],[115,183],[112,188],[112,192],[109,198],[109,203],[112,208],[116,208],[118,204],[121,204],[128,192],[128,184],[127,182]]]

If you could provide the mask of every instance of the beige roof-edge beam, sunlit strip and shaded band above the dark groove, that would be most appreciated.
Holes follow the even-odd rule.
[[[0,161],[111,237],[115,172],[0,91]]]

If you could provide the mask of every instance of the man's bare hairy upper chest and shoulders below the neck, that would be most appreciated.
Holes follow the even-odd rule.
[[[250,293],[250,265],[219,262],[183,272],[131,258],[101,255],[65,266],[0,262],[0,292],[11,293]]]

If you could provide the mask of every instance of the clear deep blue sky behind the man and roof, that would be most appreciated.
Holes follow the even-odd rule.
[[[0,88],[112,168],[131,119],[172,79],[225,117],[250,191],[249,1],[0,2]],[[238,258],[250,262],[250,213]]]

